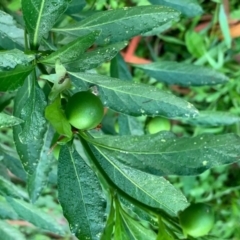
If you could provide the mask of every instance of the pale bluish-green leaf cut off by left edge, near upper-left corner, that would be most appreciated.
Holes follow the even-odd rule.
[[[24,49],[24,31],[16,26],[11,15],[0,10],[0,47]],[[1,57],[0,57],[1,58]]]

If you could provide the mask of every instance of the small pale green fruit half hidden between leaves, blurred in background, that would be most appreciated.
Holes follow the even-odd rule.
[[[147,131],[154,134],[160,131],[170,131],[171,123],[168,119],[162,117],[152,118],[147,124]]]

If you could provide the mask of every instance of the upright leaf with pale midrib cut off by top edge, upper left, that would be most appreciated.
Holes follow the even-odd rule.
[[[68,7],[69,0],[24,0],[22,12],[30,43],[37,47]]]

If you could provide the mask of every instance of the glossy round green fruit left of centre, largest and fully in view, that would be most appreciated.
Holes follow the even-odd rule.
[[[75,93],[66,105],[69,123],[81,130],[95,128],[103,119],[104,107],[97,96],[89,91]]]

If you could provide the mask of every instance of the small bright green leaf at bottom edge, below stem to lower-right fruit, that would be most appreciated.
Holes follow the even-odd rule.
[[[157,235],[153,230],[144,227],[139,221],[133,219],[123,208],[121,208],[121,216],[132,239],[156,240]]]

